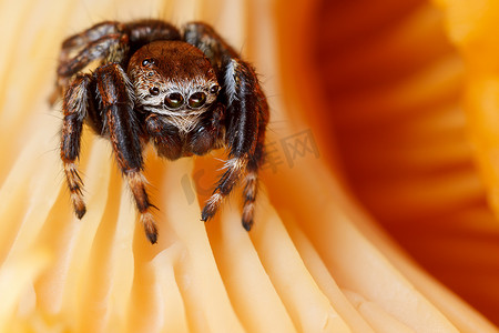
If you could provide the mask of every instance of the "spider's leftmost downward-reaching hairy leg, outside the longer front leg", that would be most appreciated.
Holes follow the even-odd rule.
[[[91,98],[90,83],[90,74],[77,75],[68,87],[62,101],[64,118],[61,130],[61,160],[74,212],[79,219],[83,218],[86,209],[82,193],[83,182],[75,162],[80,155],[81,131]]]

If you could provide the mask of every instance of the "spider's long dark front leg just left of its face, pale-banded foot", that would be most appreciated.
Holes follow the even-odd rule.
[[[133,111],[133,88],[118,63],[100,67],[94,75],[118,165],[133,194],[145,234],[151,243],[155,243],[157,229],[143,175],[141,135],[144,134]]]

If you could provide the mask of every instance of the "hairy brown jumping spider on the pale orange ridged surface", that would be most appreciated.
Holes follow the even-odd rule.
[[[151,243],[157,228],[143,174],[150,142],[169,160],[224,148],[225,171],[201,220],[213,218],[244,180],[242,224],[249,231],[268,105],[253,67],[213,28],[191,22],[179,30],[161,20],[101,22],[63,41],[57,77],[63,111],[60,155],[79,219],[86,212],[77,167],[86,123],[111,142]]]

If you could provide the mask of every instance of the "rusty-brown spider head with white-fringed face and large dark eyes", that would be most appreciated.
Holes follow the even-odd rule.
[[[136,104],[159,114],[200,114],[216,100],[220,90],[203,52],[182,41],[155,41],[142,47],[132,56],[128,72]]]

